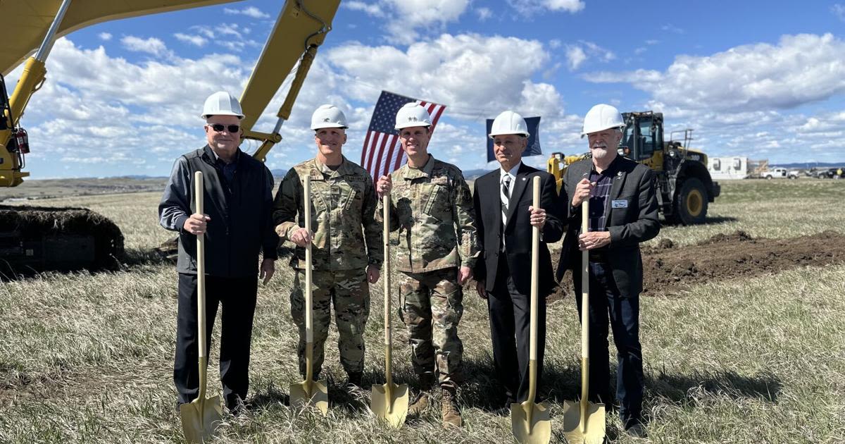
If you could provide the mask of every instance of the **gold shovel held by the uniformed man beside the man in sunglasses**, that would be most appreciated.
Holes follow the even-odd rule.
[[[311,176],[305,176],[305,230],[311,234]],[[313,239],[312,239],[313,240]],[[313,299],[311,297],[311,242],[305,246],[305,381],[291,385],[291,405],[313,405],[323,414],[329,411],[325,381],[313,380]]]

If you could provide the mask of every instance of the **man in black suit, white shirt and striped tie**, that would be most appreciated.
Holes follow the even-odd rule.
[[[493,121],[490,137],[500,167],[478,178],[473,199],[482,245],[474,275],[478,295],[488,301],[493,363],[507,396],[505,406],[528,397],[531,334],[532,226],[539,227],[540,269],[537,299],[537,386],[546,346],[546,298],[556,285],[547,242],[564,233],[558,217],[553,176],[521,162],[528,131],[517,113],[505,111]],[[541,208],[533,207],[532,181],[542,179]],[[536,402],[537,399],[534,399]]]

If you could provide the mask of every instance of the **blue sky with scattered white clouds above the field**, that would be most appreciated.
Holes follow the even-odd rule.
[[[204,144],[205,96],[243,90],[280,8],[229,3],[57,41],[22,122],[28,171],[166,175]],[[542,116],[543,152],[575,154],[586,151],[581,120],[600,102],[663,112],[711,156],[845,162],[843,27],[845,2],[345,0],[267,163],[313,156],[308,121],[323,103],[346,112],[344,151],[357,162],[382,88],[447,105],[429,151],[466,170],[491,167],[485,118]],[[272,128],[280,104],[257,129]]]

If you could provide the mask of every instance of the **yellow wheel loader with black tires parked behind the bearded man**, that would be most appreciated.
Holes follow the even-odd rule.
[[[691,225],[705,222],[707,205],[720,192],[707,171],[707,156],[701,151],[690,150],[692,129],[680,131],[683,141],[663,137],[662,112],[623,112],[625,128],[619,142],[619,154],[650,167],[655,173],[657,204],[670,223]],[[554,153],[552,157],[555,156]],[[565,167],[589,156],[563,156],[564,167],[553,171],[552,159],[548,172],[558,179],[560,188]]]

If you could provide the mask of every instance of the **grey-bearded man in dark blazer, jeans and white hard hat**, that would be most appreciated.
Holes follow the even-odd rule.
[[[608,327],[616,344],[616,397],[625,430],[646,436],[642,418],[642,348],[640,344],[640,243],[657,236],[654,174],[645,165],[619,156],[624,123],[615,107],[596,105],[584,118],[591,158],[564,173],[560,204],[568,208],[570,229],[564,239],[558,278],[572,270],[575,294],[581,294],[581,251],[589,252],[590,397],[613,403],[610,394]],[[579,233],[581,204],[590,202],[590,231]],[[581,313],[581,297],[576,297]],[[609,320],[609,321],[608,321]],[[583,320],[581,320],[583,321]]]

